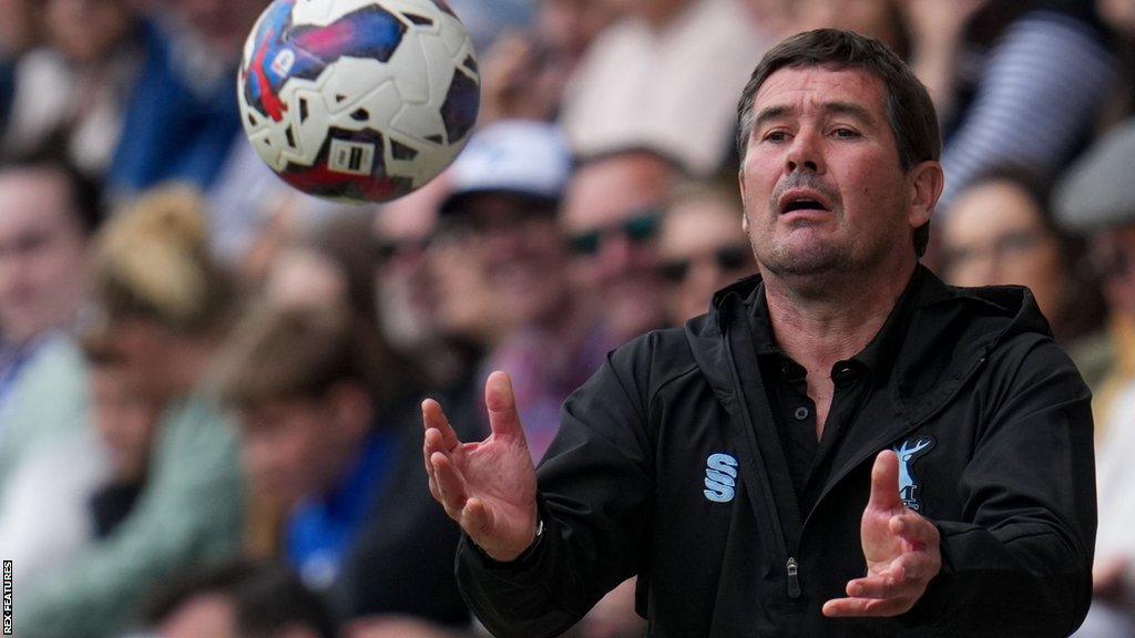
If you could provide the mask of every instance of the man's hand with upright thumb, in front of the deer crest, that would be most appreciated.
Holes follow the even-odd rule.
[[[942,569],[938,528],[899,500],[899,459],[875,457],[871,500],[860,523],[867,576],[848,582],[847,598],[824,604],[824,615],[893,616],[905,613]]]

